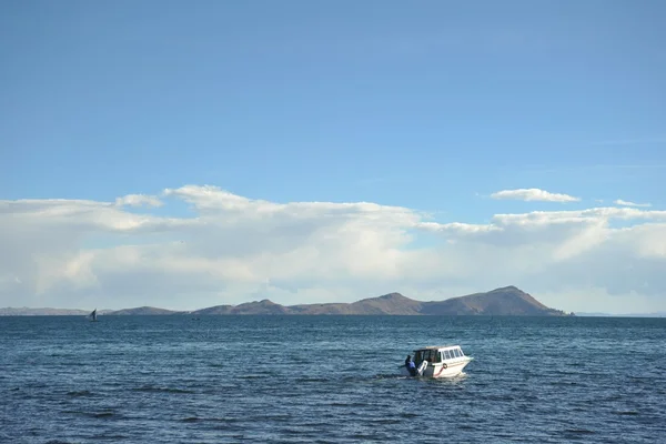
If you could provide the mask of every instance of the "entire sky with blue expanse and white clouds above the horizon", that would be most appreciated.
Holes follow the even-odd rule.
[[[0,306],[666,311],[666,3],[0,2]]]

